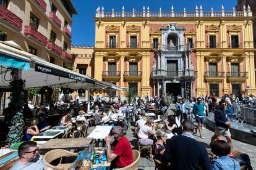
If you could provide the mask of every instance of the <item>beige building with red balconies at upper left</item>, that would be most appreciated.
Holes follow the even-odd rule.
[[[60,65],[72,62],[70,55],[72,15],[70,0],[2,0],[0,41],[14,41],[23,51]]]

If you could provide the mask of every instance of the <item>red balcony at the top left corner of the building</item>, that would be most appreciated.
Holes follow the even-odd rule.
[[[0,4],[0,18],[22,30],[22,19]]]

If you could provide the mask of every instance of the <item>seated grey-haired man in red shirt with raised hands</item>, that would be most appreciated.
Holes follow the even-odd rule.
[[[124,133],[121,126],[114,127],[114,142],[112,145],[115,148],[112,153],[110,151],[111,136],[105,138],[108,162],[112,163],[113,168],[123,168],[134,162],[132,148]]]

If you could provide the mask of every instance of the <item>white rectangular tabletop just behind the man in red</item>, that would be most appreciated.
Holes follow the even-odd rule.
[[[105,137],[110,133],[112,127],[113,126],[96,126],[88,137],[93,139],[105,139]]]

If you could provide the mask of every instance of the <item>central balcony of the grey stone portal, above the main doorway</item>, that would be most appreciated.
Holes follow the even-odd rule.
[[[184,71],[167,71],[163,69],[153,70],[151,73],[153,78],[182,78]]]

